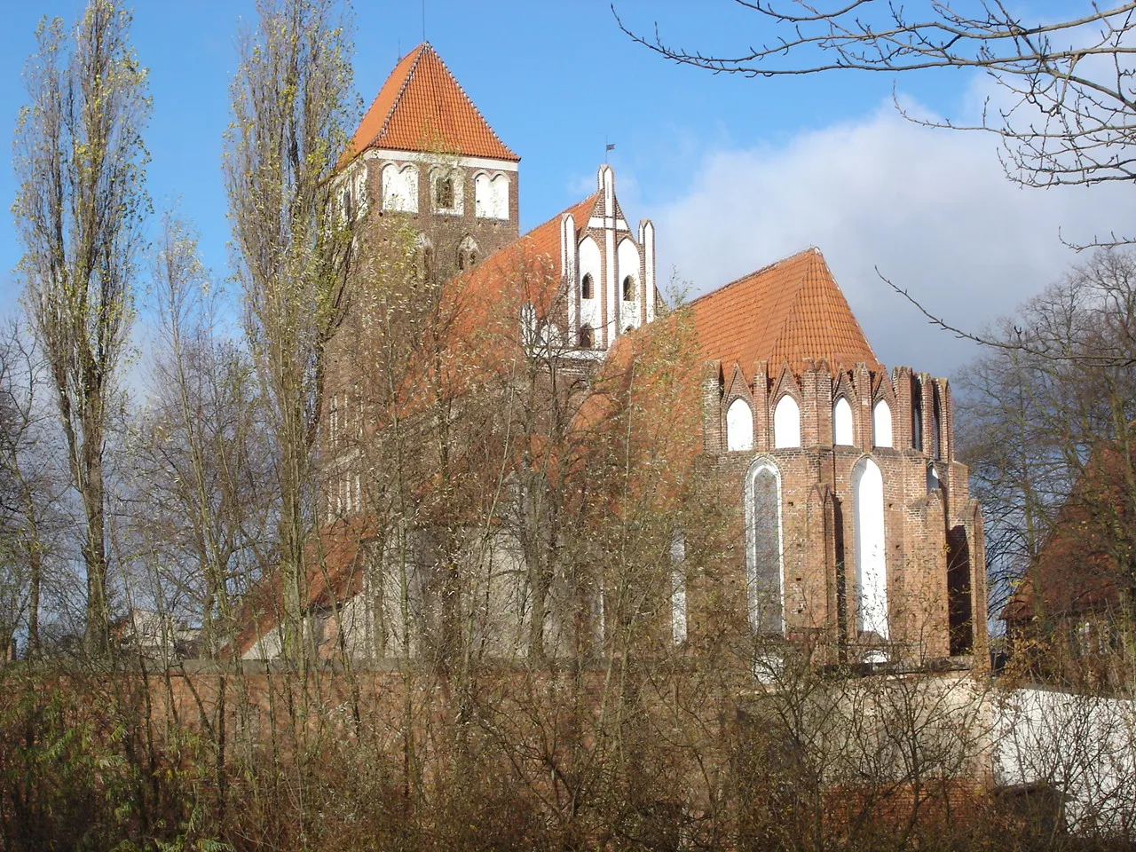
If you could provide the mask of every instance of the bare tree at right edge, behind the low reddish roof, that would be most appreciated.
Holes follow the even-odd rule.
[[[989,336],[1005,345],[960,376],[959,442],[993,521],[992,611],[1061,512],[1085,516],[1080,579],[1100,557],[1120,588],[1136,588],[1136,258],[1095,254]]]

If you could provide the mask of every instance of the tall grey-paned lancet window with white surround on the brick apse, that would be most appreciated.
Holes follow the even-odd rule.
[[[758,461],[745,478],[746,586],[754,633],[785,630],[780,473]]]

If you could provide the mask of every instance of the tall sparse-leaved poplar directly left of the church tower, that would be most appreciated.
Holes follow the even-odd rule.
[[[337,0],[260,0],[240,40],[225,181],[249,341],[273,406],[285,644],[299,652],[324,350],[342,321],[350,220],[333,174],[354,118],[350,19]]]

